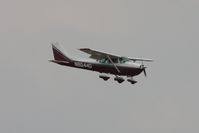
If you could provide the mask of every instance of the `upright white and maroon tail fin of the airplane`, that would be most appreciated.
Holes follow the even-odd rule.
[[[52,44],[52,50],[55,61],[60,62],[72,62],[72,59],[69,58],[68,54],[65,52],[64,48],[58,43]],[[54,61],[53,61],[54,62]]]

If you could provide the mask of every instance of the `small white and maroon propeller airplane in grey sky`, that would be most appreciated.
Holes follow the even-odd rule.
[[[143,62],[153,61],[152,59],[117,56],[89,48],[81,48],[79,50],[89,54],[89,58],[91,58],[90,60],[74,59],[71,58],[65,52],[64,48],[58,43],[52,44],[52,50],[54,60],[49,60],[50,62],[63,66],[99,72],[101,73],[99,78],[103,79],[104,81],[107,81],[110,78],[109,74],[113,74],[115,75],[114,80],[118,83],[125,81],[125,79],[121,76],[127,76],[127,81],[131,84],[137,83],[137,81],[133,79],[134,76],[137,76],[142,72],[144,73],[145,77],[147,76],[145,70],[147,67],[144,66]],[[136,63],[136,61],[141,61],[142,63],[139,64]]]

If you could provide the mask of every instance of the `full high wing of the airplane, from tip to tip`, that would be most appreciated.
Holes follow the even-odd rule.
[[[90,54],[90,58],[95,59],[95,60],[100,60],[104,58],[110,58],[110,59],[117,59],[117,58],[126,58],[128,60],[132,61],[153,61],[152,59],[144,59],[144,58],[130,58],[130,57],[123,57],[123,56],[118,56],[118,55],[113,55],[113,54],[107,54],[104,52],[92,50],[89,48],[81,48],[79,49],[80,51],[83,51],[87,54]]]

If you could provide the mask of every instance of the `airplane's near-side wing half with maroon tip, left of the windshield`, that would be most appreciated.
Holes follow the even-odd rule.
[[[100,60],[100,59],[104,59],[107,57],[110,57],[111,59],[117,59],[120,56],[116,56],[116,55],[112,55],[112,54],[107,54],[104,52],[100,52],[100,51],[95,51],[89,48],[81,48],[79,49],[80,51],[83,51],[87,54],[90,54],[90,58],[95,59],[95,60]]]

